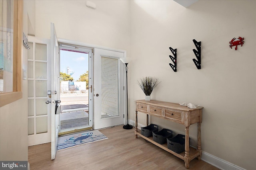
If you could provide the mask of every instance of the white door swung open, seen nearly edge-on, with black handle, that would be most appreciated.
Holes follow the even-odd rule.
[[[58,55],[58,40],[55,32],[54,23],[51,23],[51,90],[48,91],[51,94],[51,133],[52,133],[52,151],[51,158],[55,159],[57,143],[58,143],[58,127],[59,127],[59,113],[58,107],[60,103],[59,94],[59,77],[60,77],[60,66],[59,66],[59,55]]]

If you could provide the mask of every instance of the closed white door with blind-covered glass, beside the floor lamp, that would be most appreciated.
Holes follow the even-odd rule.
[[[94,129],[124,123],[124,53],[94,49]]]

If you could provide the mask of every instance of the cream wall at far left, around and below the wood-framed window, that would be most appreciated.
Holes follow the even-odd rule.
[[[28,35],[28,16],[34,1],[24,0],[23,32]],[[22,69],[27,70],[27,49],[22,45]],[[21,79],[22,79],[22,75]],[[28,83],[22,80],[22,99],[0,107],[0,160],[28,160]]]

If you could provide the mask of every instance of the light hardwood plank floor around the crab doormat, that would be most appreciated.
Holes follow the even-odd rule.
[[[135,138],[133,129],[116,126],[101,129],[108,139],[57,151],[51,160],[50,143],[28,147],[31,170],[186,170],[184,161],[160,149],[141,137]],[[190,170],[218,170],[194,159]]]

